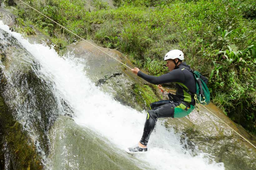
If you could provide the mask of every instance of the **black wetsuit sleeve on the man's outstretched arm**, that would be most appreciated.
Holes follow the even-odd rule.
[[[163,74],[158,77],[147,75],[142,71],[139,71],[137,75],[154,85],[169,83],[169,82],[183,83],[185,80],[185,76],[183,73],[181,73],[180,69],[175,69],[173,71],[170,71],[167,74]]]

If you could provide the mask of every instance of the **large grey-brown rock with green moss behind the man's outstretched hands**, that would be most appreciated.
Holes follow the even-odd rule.
[[[135,66],[119,51],[97,46],[92,40],[87,40],[97,48],[125,63]],[[80,41],[67,47],[77,58],[86,61],[86,75],[105,92],[110,93],[120,103],[136,110],[149,109],[149,104],[162,98],[155,85],[150,85],[139,76],[133,74],[129,68],[101,52],[91,44]],[[93,71],[90,68],[94,68]],[[140,94],[141,93],[141,94]]]

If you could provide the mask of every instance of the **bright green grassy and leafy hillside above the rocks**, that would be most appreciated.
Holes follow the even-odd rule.
[[[171,49],[208,76],[212,101],[256,134],[256,20],[253,0],[26,0],[37,10],[85,39],[121,51],[152,75],[168,70],[163,56]],[[17,15],[31,21],[65,48],[77,37],[36,11],[19,5]],[[66,38],[63,38],[63,34]]]

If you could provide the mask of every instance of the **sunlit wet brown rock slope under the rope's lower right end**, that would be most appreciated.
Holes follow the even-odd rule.
[[[212,103],[206,108],[242,134],[234,122],[219,108]],[[199,150],[215,156],[215,161],[223,162],[226,169],[249,170],[256,166],[256,149],[203,106],[200,106],[199,113],[194,110],[187,117],[169,119],[166,122],[166,127],[174,127],[177,131],[184,133],[185,136],[181,139],[188,138],[186,149],[193,150],[196,145]],[[247,138],[249,136],[249,134],[246,135]],[[183,140],[181,143],[184,142]],[[255,139],[251,142],[255,143]]]

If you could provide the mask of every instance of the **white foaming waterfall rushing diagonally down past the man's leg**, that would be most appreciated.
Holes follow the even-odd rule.
[[[43,44],[30,44],[18,33],[11,32],[0,21],[0,28],[12,34],[41,65],[42,75],[55,83],[56,96],[65,99],[73,108],[75,122],[86,126],[113,145],[126,149],[135,145],[143,132],[146,113],[121,105],[110,94],[103,93],[86,76],[84,61],[70,56],[60,57],[56,51]],[[93,68],[91,68],[93,71]],[[157,122],[156,132],[150,136],[149,151],[136,155],[143,163],[155,169],[224,169],[206,153],[191,156],[180,144],[180,134],[166,130],[164,119]]]

